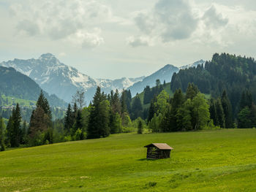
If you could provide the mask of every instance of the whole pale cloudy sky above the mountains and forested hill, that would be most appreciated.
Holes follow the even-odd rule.
[[[0,0],[0,25],[0,62],[53,53],[98,78],[256,57],[255,0]]]

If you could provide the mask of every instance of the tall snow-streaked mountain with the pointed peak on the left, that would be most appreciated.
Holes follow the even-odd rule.
[[[50,53],[43,54],[38,59],[21,60],[15,58],[13,61],[2,62],[0,65],[13,67],[18,72],[26,74],[42,89],[50,94],[56,94],[67,102],[72,100],[72,96],[78,89],[83,89],[86,92],[86,101],[89,102],[94,96],[97,86],[100,86],[105,93],[116,88],[121,91],[144,78],[93,79],[78,72],[78,69],[62,64]]]

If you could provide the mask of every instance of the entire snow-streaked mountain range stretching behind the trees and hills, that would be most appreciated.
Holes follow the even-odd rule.
[[[86,92],[86,101],[89,103],[97,86],[101,87],[105,93],[116,89],[118,91],[130,89],[132,96],[135,96],[136,93],[142,92],[146,85],[154,86],[157,79],[161,82],[164,80],[170,82],[174,72],[198,64],[205,64],[205,61],[200,60],[179,68],[168,64],[148,77],[123,77],[118,80],[91,78],[89,75],[78,72],[78,69],[62,64],[50,53],[43,54],[38,59],[21,60],[15,58],[13,61],[2,62],[0,66],[12,67],[18,72],[26,74],[37,82],[43,90],[50,94],[56,94],[67,102],[72,100],[72,96],[78,89],[83,89]]]

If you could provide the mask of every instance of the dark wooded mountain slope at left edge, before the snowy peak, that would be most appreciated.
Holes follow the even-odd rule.
[[[37,101],[41,88],[34,80],[13,68],[0,66],[0,95],[13,96],[19,99]],[[67,103],[56,95],[43,91],[52,107],[67,107]]]

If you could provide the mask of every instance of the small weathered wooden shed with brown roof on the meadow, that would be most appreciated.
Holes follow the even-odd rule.
[[[170,158],[170,151],[173,150],[166,143],[151,143],[144,147],[147,147],[147,158],[149,159]]]

